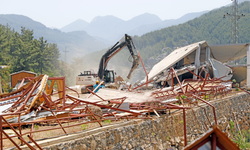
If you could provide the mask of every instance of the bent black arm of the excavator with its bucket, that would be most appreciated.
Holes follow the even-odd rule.
[[[132,72],[137,68],[140,60],[138,55],[135,55],[135,46],[132,38],[129,35],[125,34],[125,36],[120,41],[118,41],[102,56],[98,70],[98,76],[101,80],[103,80],[104,78],[104,72],[106,70],[109,60],[126,46],[128,47],[128,50],[133,58],[133,64],[127,76],[127,78],[130,79]]]

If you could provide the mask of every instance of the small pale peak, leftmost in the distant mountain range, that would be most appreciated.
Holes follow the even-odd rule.
[[[72,31],[84,31],[85,28],[88,26],[88,22],[78,19],[71,24],[61,28],[63,32],[72,32]]]

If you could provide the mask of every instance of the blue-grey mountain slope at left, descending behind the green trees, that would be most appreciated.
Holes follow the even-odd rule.
[[[47,28],[45,25],[22,15],[0,15],[0,24],[8,24],[9,27],[18,32],[20,32],[21,26],[33,30],[34,38],[44,37],[48,42],[56,43],[61,52],[67,48],[67,51],[69,51],[67,54],[68,60],[108,46],[85,31],[65,33],[58,29]]]

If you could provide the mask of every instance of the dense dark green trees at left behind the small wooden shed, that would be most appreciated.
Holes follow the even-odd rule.
[[[43,37],[35,39],[33,31],[21,28],[16,32],[9,26],[0,25],[0,69],[4,90],[10,90],[9,74],[21,70],[33,71],[49,76],[69,76],[66,64],[59,61],[60,53],[54,43],[48,43]]]

